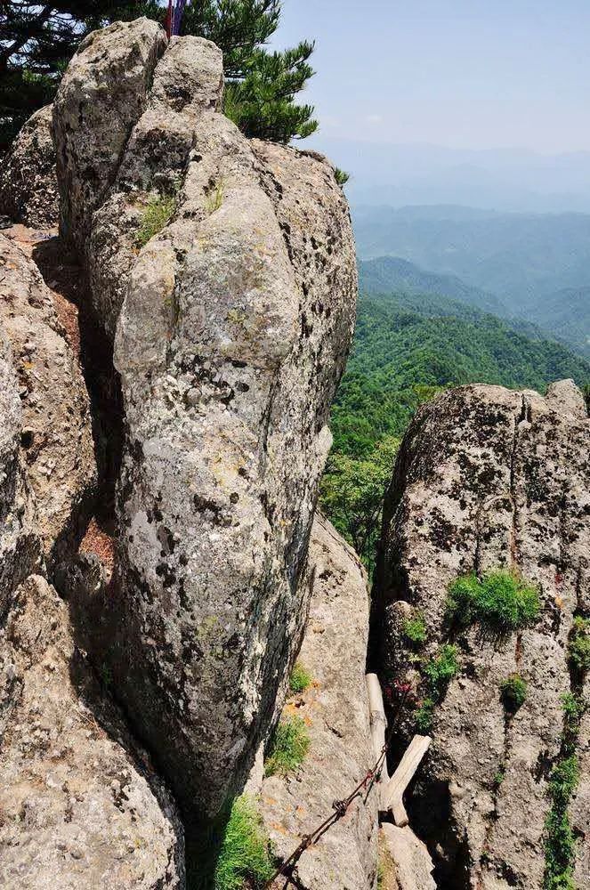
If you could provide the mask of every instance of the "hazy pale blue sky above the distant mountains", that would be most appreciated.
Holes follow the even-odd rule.
[[[315,38],[314,140],[590,150],[588,0],[284,0]]]

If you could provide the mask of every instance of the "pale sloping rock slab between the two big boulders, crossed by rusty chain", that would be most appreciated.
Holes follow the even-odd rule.
[[[348,797],[375,759],[365,684],[367,575],[352,548],[320,515],[311,531],[307,571],[311,603],[299,661],[311,685],[289,696],[282,717],[303,720],[310,748],[295,773],[266,777],[261,791],[264,825],[283,861],[327,818],[335,800]],[[295,886],[369,890],[376,880],[376,833],[374,788],[366,803],[357,799],[303,853]]]

